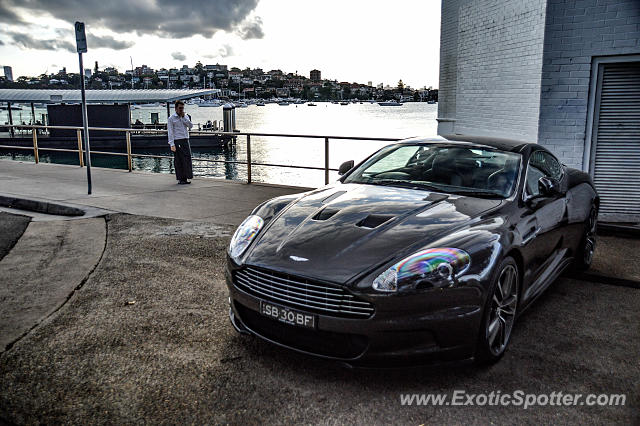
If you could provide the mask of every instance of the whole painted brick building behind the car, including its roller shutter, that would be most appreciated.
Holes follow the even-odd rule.
[[[640,1],[442,2],[438,134],[537,142],[640,222]]]

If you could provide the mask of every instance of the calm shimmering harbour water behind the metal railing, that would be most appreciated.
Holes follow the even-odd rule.
[[[236,109],[236,127],[243,132],[289,133],[358,137],[406,138],[411,136],[435,136],[437,105],[427,103],[407,103],[400,107],[381,107],[378,104],[339,105],[317,103],[317,106],[305,105],[280,106],[267,104],[263,107],[251,105]],[[222,120],[222,108],[197,107],[187,105],[194,123],[207,120]],[[46,110],[36,109],[36,117]],[[151,121],[151,113],[159,113],[161,121],[166,120],[166,108],[140,108],[131,111],[132,121],[140,119],[144,123]],[[31,119],[28,107],[14,111],[14,122]],[[0,122],[7,120],[7,112],[0,111]],[[358,162],[378,148],[388,144],[380,141],[332,140],[329,147],[329,165],[332,168],[346,160]],[[16,160],[33,161],[25,152],[0,152],[2,157]],[[149,153],[136,150],[133,152]],[[154,154],[165,154],[162,150]],[[251,138],[252,161],[258,163],[289,164],[303,166],[324,166],[324,141],[308,138]],[[170,154],[167,150],[166,154]],[[198,159],[246,160],[246,140],[239,137],[235,148],[194,150],[194,174],[227,179],[246,179],[246,166],[224,165],[198,161]],[[126,168],[126,158],[92,155],[92,164],[97,167]],[[40,153],[40,161],[77,164],[77,154]],[[134,159],[136,170],[158,173],[173,171],[169,159]],[[331,173],[331,179],[337,179],[337,172]],[[321,186],[324,184],[324,172],[267,166],[253,166],[252,178],[258,182],[280,183],[299,186]]]

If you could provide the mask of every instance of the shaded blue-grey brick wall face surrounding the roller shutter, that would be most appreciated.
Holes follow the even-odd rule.
[[[640,0],[548,0],[538,142],[583,164],[594,57],[640,53]]]

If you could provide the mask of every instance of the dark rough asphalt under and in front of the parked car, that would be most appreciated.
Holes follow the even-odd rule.
[[[232,227],[114,215],[71,299],[0,354],[15,423],[550,424],[640,421],[640,290],[563,278],[490,368],[346,370],[228,323]],[[624,393],[624,407],[407,407],[401,393]]]

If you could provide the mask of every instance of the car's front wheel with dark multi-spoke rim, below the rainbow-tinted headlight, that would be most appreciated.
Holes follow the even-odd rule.
[[[493,364],[504,355],[515,323],[520,299],[520,274],[512,257],[505,257],[485,302],[476,348],[477,364]]]

